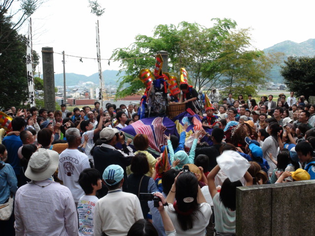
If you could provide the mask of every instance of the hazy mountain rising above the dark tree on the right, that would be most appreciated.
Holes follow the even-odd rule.
[[[284,60],[289,56],[297,57],[314,57],[315,56],[315,39],[308,39],[302,43],[296,43],[290,40],[277,43],[272,47],[263,50],[265,53],[284,53]],[[282,63],[284,65],[284,62]],[[270,77],[275,84],[281,84],[283,82],[283,77],[280,74],[280,66],[276,65],[271,69]]]

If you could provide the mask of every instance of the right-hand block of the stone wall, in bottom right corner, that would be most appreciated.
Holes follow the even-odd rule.
[[[272,235],[315,235],[315,180],[272,185]]]

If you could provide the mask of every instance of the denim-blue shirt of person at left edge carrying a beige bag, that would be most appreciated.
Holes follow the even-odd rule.
[[[0,165],[5,164],[0,161]],[[0,204],[5,203],[8,200],[10,194],[15,194],[18,190],[18,180],[16,179],[15,173],[12,166],[5,164],[0,169]]]

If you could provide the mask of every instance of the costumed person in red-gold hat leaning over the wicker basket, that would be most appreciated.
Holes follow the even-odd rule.
[[[194,113],[198,114],[201,110],[199,106],[198,92],[196,89],[188,85],[187,72],[185,68],[181,68],[181,83],[179,88],[181,89],[180,102],[186,103],[186,109],[190,108]]]

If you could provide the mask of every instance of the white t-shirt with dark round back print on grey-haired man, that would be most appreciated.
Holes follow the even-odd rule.
[[[78,149],[67,148],[59,156],[58,178],[70,189],[75,203],[84,195],[77,181],[80,173],[87,168],[90,168],[89,158]]]

